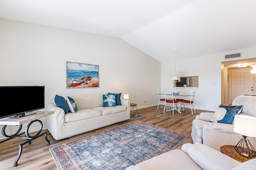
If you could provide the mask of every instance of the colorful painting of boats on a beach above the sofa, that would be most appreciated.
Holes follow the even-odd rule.
[[[67,88],[99,87],[99,66],[66,61]]]

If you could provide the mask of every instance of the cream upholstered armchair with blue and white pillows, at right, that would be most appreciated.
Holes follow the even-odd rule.
[[[256,117],[256,96],[238,96],[232,106],[243,106],[239,115]],[[222,145],[236,145],[242,135],[233,131],[233,125],[209,122],[214,113],[202,112],[192,122],[191,137],[193,143],[202,143],[213,149],[220,150]],[[248,137],[256,147],[256,138]]]

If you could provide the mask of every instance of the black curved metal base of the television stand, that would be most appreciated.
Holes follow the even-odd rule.
[[[28,133],[28,129],[29,129],[30,125],[32,125],[32,123],[34,123],[34,122],[39,122],[39,123],[40,123],[40,129],[38,130],[38,133],[37,133],[36,135],[30,136],[29,133]],[[22,147],[23,147],[23,145],[25,145],[26,143],[28,143],[28,145],[30,145],[30,144],[31,144],[31,141],[33,141],[34,139],[36,139],[36,138],[41,137],[42,135],[44,135],[44,138],[45,138],[45,140],[47,141],[47,145],[50,145],[50,141],[49,141],[48,138],[47,138],[47,132],[44,132],[44,133],[40,134],[41,131],[42,131],[42,128],[43,128],[43,123],[42,123],[42,121],[40,121],[40,120],[34,120],[34,121],[31,121],[30,123],[28,123],[25,132],[22,132],[22,133],[20,133],[20,131],[21,131],[21,129],[22,129],[22,125],[20,125],[20,128],[18,129],[18,131],[17,131],[15,134],[10,135],[10,136],[9,136],[9,135],[6,135],[6,133],[5,133],[6,126],[7,126],[7,125],[4,125],[4,126],[3,126],[3,128],[2,128],[2,134],[3,134],[4,137],[8,137],[8,139],[5,139],[5,140],[3,140],[3,141],[0,141],[0,143],[4,143],[4,142],[6,142],[6,141],[9,141],[10,139],[26,139],[26,140],[27,140],[27,141],[25,141],[25,142],[23,142],[23,143],[21,143],[21,144],[19,145],[19,152],[18,152],[18,156],[17,156],[16,160],[14,161],[14,166],[18,166],[18,160],[20,159],[20,156],[21,156],[21,153],[22,153]],[[25,133],[25,136],[21,136],[21,135],[23,135],[24,133]]]

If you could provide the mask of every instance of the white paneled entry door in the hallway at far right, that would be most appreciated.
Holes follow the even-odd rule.
[[[232,101],[240,95],[254,94],[253,74],[250,70],[231,70]]]

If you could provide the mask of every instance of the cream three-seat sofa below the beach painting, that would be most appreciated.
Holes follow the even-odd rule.
[[[130,101],[121,99],[121,104],[102,107],[101,95],[70,96],[77,104],[76,113],[64,113],[54,104],[48,106],[54,114],[46,117],[48,131],[56,140],[72,137],[104,126],[130,119]]]

